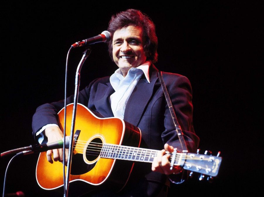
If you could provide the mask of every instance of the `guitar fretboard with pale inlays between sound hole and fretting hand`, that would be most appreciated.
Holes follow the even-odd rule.
[[[100,157],[152,163],[154,157],[157,155],[157,152],[158,150],[146,148],[104,144],[100,153]]]

